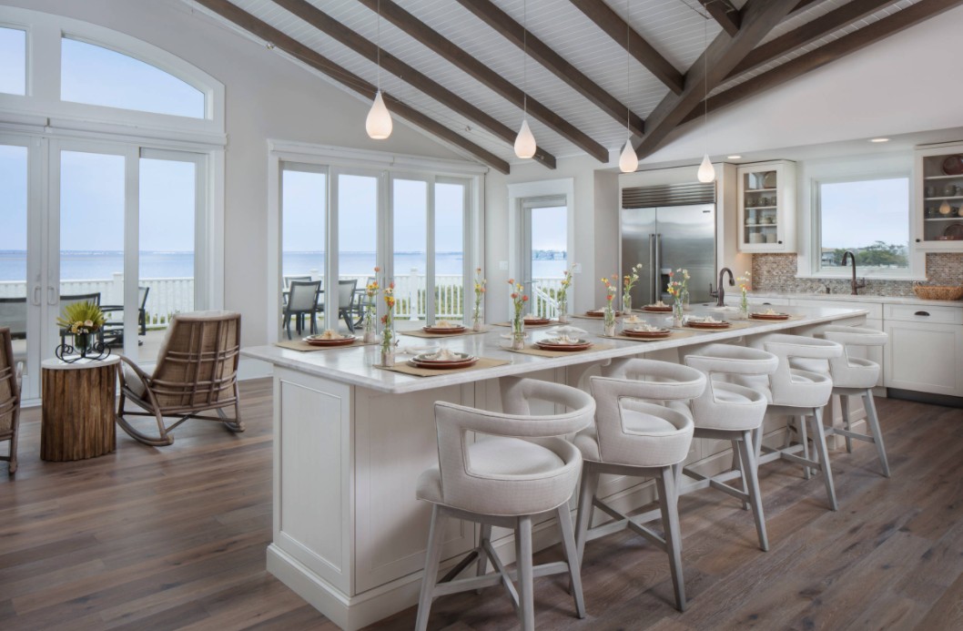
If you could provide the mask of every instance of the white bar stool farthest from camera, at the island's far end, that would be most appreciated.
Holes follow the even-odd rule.
[[[864,327],[841,327],[834,325],[820,331],[820,336],[843,345],[842,357],[829,360],[829,375],[833,380],[833,396],[840,398],[840,409],[843,411],[844,429],[826,428],[826,435],[839,434],[846,436],[846,451],[852,453],[852,439],[872,442],[879,455],[879,464],[883,475],[890,477],[890,464],[886,460],[886,447],[883,445],[883,433],[879,428],[879,416],[876,414],[876,404],[872,397],[872,388],[879,381],[879,364],[870,359],[852,357],[849,355],[851,347],[886,346],[890,336],[885,332]],[[862,397],[866,408],[866,422],[870,426],[870,434],[853,432],[849,425],[849,397]]]

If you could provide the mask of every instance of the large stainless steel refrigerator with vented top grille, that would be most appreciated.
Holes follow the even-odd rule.
[[[669,302],[669,272],[689,270],[690,302],[709,302],[716,282],[716,185],[622,190],[622,275],[642,264],[632,303]]]

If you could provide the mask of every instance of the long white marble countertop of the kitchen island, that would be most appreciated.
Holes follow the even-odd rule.
[[[268,361],[275,366],[297,370],[305,374],[324,377],[333,381],[340,381],[350,385],[359,385],[380,392],[401,394],[405,392],[416,392],[419,390],[429,390],[432,388],[447,385],[468,383],[486,379],[495,379],[510,375],[524,375],[534,370],[546,370],[560,368],[564,366],[605,361],[613,357],[640,355],[651,353],[663,349],[672,349],[692,344],[704,344],[706,342],[723,341],[752,335],[756,333],[766,333],[785,329],[796,329],[817,325],[846,317],[866,315],[865,310],[858,308],[830,308],[830,307],[784,307],[788,313],[803,316],[799,320],[782,322],[758,322],[751,321],[749,327],[745,329],[730,329],[721,331],[699,331],[690,337],[667,339],[657,342],[636,342],[622,339],[612,339],[601,337],[603,325],[601,320],[573,319],[569,326],[577,327],[587,331],[587,339],[596,344],[610,345],[612,348],[601,350],[588,350],[581,353],[573,353],[560,357],[543,357],[537,355],[523,355],[512,353],[505,349],[508,339],[502,337],[503,334],[510,333],[511,329],[506,327],[489,326],[489,331],[478,335],[462,335],[450,338],[422,338],[401,335],[400,349],[411,349],[413,347],[422,352],[426,348],[438,348],[444,346],[452,351],[479,355],[492,359],[505,359],[510,363],[503,366],[496,366],[483,370],[462,371],[451,373],[440,373],[437,377],[413,377],[402,373],[382,370],[375,366],[379,350],[377,346],[347,347],[341,349],[325,349],[324,351],[311,351],[301,353],[289,349],[282,349],[277,346],[257,346],[243,349],[242,355],[253,357],[262,361]],[[727,313],[734,313],[731,309]],[[693,315],[713,314],[719,317],[719,311],[715,307],[706,308],[695,306],[691,312]],[[663,314],[652,315],[639,313],[640,320],[644,320],[652,325],[664,326],[666,316]],[[621,329],[621,323],[617,325]],[[551,327],[530,328],[529,342],[537,341],[544,337],[552,336]],[[398,355],[398,361],[405,361],[411,355]]]

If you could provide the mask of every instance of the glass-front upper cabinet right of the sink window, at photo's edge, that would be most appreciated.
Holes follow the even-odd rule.
[[[916,172],[917,248],[963,250],[963,144],[917,149]]]

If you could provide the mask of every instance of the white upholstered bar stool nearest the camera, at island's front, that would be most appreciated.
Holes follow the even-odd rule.
[[[429,502],[431,528],[415,628],[428,627],[431,601],[448,593],[504,585],[518,609],[522,628],[534,629],[534,576],[568,572],[579,618],[586,617],[579,557],[572,534],[568,500],[582,470],[582,455],[556,437],[574,434],[592,421],[595,402],[577,388],[548,381],[503,378],[504,413],[438,402],[438,464],[418,479],[418,499]],[[531,400],[546,401],[569,411],[533,414]],[[475,441],[469,433],[479,434]],[[483,435],[482,435],[483,434]],[[531,439],[531,440],[529,440]],[[532,565],[532,517],[555,511],[559,518],[565,562]],[[479,545],[441,582],[435,584],[444,543],[444,519],[481,523]],[[491,528],[515,531],[516,570],[508,571],[491,545]],[[478,560],[478,575],[452,580]],[[485,574],[491,560],[497,570]],[[518,590],[512,584],[517,577]]]

